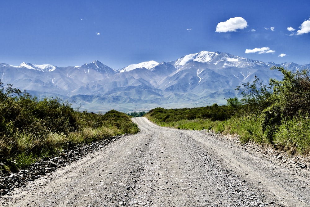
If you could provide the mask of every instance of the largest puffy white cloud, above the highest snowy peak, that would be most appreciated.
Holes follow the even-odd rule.
[[[217,24],[215,32],[236,32],[237,29],[244,29],[247,26],[246,20],[238,16]]]

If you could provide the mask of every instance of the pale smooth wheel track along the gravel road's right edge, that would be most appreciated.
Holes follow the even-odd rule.
[[[227,162],[227,166],[234,171],[244,173],[244,176],[250,182],[256,183],[263,187],[266,191],[271,191],[277,199],[286,206],[305,206],[299,198],[309,197],[309,193],[300,193],[300,184],[306,179],[300,176],[287,176],[283,173],[284,169],[271,164],[268,160],[261,159],[257,156],[261,153],[250,154],[241,149],[240,146],[230,143],[227,145],[224,142],[217,142],[214,139],[206,139],[206,134],[201,132],[191,132],[194,140],[197,140],[204,146],[207,146],[215,151],[216,154],[222,156]],[[234,148],[232,147],[234,146]],[[239,148],[239,150],[236,150]],[[309,181],[307,181],[309,182]],[[307,195],[305,195],[305,193]],[[309,204],[309,203],[308,203]]]

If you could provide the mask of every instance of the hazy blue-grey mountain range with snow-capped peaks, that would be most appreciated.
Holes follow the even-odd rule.
[[[75,101],[73,107],[80,110],[126,112],[225,104],[224,98],[238,96],[235,88],[253,81],[255,75],[266,84],[269,78],[281,79],[280,72],[270,70],[273,65],[288,70],[310,67],[201,51],[171,62],[148,61],[118,70],[100,61],[68,67],[0,63],[0,79],[39,98]]]

